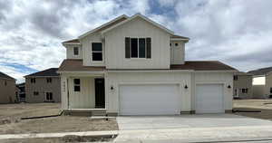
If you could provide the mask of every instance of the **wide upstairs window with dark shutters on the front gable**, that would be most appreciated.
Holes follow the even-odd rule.
[[[151,58],[151,38],[125,38],[125,58]]]

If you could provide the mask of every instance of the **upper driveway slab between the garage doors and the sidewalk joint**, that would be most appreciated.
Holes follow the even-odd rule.
[[[233,114],[123,116],[117,117],[117,122],[121,130],[272,126],[272,121],[269,120]]]

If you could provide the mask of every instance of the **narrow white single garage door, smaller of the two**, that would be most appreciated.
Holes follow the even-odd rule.
[[[223,113],[223,85],[198,84],[196,91],[196,113]]]

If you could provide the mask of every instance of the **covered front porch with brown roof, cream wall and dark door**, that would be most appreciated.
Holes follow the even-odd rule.
[[[65,60],[58,72],[64,113],[106,112],[104,67],[83,66],[82,60]]]

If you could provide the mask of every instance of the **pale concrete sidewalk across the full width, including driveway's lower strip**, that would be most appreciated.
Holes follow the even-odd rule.
[[[114,142],[212,142],[272,140],[272,126],[225,127],[225,128],[186,128],[186,129],[145,129],[109,130],[37,134],[7,134],[0,139],[12,138],[62,138],[66,135],[103,137],[118,135]],[[0,140],[1,142],[1,140]]]

